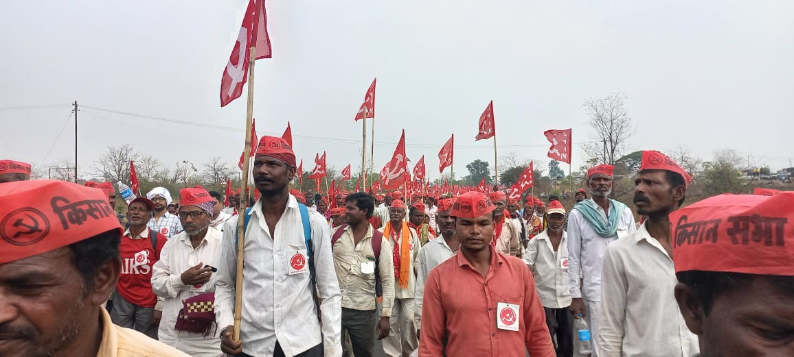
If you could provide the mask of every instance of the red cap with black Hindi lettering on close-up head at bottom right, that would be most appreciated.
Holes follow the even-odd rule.
[[[794,276],[794,192],[714,196],[670,222],[676,272]]]

